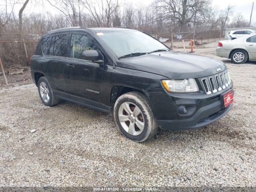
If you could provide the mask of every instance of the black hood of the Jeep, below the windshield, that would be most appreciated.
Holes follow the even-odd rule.
[[[226,69],[214,58],[174,51],[156,52],[121,59],[117,66],[166,76],[170,79],[200,78]],[[221,71],[216,71],[220,68]]]

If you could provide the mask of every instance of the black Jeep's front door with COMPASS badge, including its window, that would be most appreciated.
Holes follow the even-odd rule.
[[[88,104],[100,100],[104,65],[83,60],[82,53],[85,50],[99,49],[85,32],[70,33],[70,51],[64,70],[68,92],[72,100]]]

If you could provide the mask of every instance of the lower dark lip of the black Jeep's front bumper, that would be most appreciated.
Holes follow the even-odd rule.
[[[233,103],[222,108],[222,100],[200,108],[194,116],[183,120],[158,120],[158,126],[167,130],[188,130],[206,126],[226,115]]]

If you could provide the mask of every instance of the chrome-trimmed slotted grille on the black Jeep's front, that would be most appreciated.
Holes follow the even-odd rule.
[[[202,83],[206,94],[216,93],[230,85],[231,79],[228,71],[220,73],[216,76],[203,78]]]

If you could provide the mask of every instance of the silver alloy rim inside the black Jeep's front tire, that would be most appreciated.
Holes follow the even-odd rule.
[[[122,128],[130,135],[137,136],[144,130],[144,117],[138,106],[132,102],[124,102],[118,110],[118,118]]]

